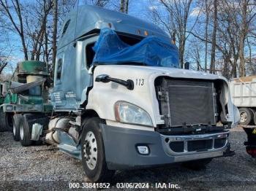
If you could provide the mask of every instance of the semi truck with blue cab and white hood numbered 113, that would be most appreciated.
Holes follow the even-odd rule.
[[[164,31],[120,12],[81,6],[58,44],[50,122],[24,116],[23,146],[43,139],[82,160],[93,182],[116,170],[233,155],[239,121],[227,79],[180,69]]]

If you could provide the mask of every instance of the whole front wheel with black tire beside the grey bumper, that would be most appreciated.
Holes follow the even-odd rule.
[[[105,121],[93,117],[83,124],[81,137],[83,170],[91,182],[109,182],[115,171],[108,170],[99,123]]]

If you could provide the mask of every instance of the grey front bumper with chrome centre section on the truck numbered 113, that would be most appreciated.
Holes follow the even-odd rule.
[[[189,136],[165,136],[155,131],[118,128],[101,124],[105,159],[110,170],[147,168],[188,160],[222,157],[229,148],[229,130]],[[214,144],[222,140],[221,144]],[[193,142],[194,141],[194,142]],[[183,142],[170,147],[170,143]],[[203,144],[207,149],[202,147]],[[148,155],[141,155],[137,146],[147,146]],[[175,151],[173,149],[175,148]],[[176,149],[178,148],[178,149]]]

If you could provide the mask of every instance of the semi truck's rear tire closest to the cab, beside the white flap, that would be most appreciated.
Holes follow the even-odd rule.
[[[29,127],[25,116],[20,120],[20,144],[23,147],[29,147],[32,144],[31,128]]]

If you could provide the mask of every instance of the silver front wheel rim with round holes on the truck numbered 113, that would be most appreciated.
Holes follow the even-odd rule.
[[[89,131],[86,133],[86,139],[83,144],[83,155],[86,159],[88,168],[93,170],[97,164],[97,141],[94,133]]]

